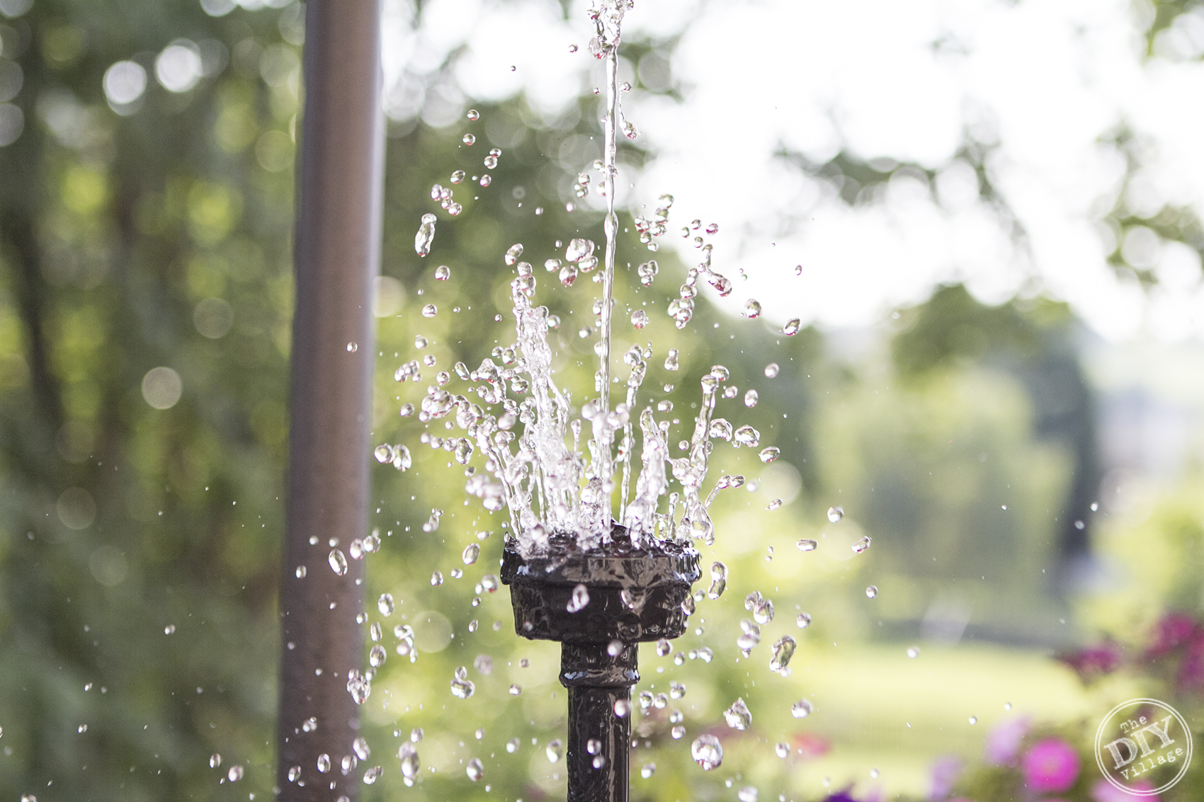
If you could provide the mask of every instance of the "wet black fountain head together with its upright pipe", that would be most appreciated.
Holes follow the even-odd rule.
[[[637,643],[685,632],[683,602],[700,576],[698,553],[689,544],[635,548],[618,524],[609,542],[590,550],[576,536],[554,535],[545,553],[524,558],[507,539],[502,582],[510,585],[515,632],[563,644],[568,802],[626,802]],[[579,585],[589,595],[584,606]]]

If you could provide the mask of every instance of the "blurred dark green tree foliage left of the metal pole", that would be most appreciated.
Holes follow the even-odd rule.
[[[206,8],[0,5],[10,798],[271,788],[299,7]]]

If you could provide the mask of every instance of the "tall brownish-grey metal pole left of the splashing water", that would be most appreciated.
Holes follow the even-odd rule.
[[[359,772],[343,776],[341,761],[359,729],[347,673],[364,661],[364,570],[349,547],[368,523],[380,84],[379,0],[309,0],[281,585],[277,783],[287,802],[358,796]],[[335,548],[347,555],[344,576],[327,561]],[[311,718],[315,727],[305,726]]]

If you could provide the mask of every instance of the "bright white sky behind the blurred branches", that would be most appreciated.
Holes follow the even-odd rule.
[[[566,22],[554,0],[431,0],[415,31],[407,0],[389,0],[386,83],[407,69],[429,72],[466,45],[455,75],[468,98],[526,92],[554,113],[601,82],[585,52],[585,7],[577,2]],[[651,210],[669,191],[671,230],[696,217],[718,223],[715,267],[749,276],[727,299],[733,313],[756,297],[779,324],[857,326],[923,300],[936,283],[964,281],[988,302],[1034,290],[1069,301],[1109,340],[1202,340],[1193,250],[1134,243],[1162,282],[1149,294],[1105,264],[1098,219],[1125,163],[1099,138],[1119,124],[1152,143],[1131,206],[1204,210],[1204,65],[1143,60],[1133,8],[1131,0],[636,0],[627,39],[681,33],[672,72],[684,102],[625,95],[626,117],[656,159],[627,177],[636,188],[619,200]],[[1204,49],[1200,29],[1187,25],[1169,43]],[[967,129],[998,140],[990,166],[1027,244],[976,201],[968,170],[945,169]],[[844,147],[939,170],[940,202],[904,178],[884,202],[850,208],[774,160],[783,145],[813,161]],[[695,260],[679,237],[665,240]]]

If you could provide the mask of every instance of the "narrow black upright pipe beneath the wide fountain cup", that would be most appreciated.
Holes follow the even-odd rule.
[[[606,643],[561,647],[560,682],[568,689],[568,802],[627,802],[638,654],[636,643],[614,655]],[[626,710],[615,709],[619,701]]]

